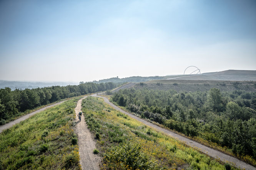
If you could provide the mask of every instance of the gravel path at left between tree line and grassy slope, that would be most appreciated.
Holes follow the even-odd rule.
[[[65,101],[66,101],[66,100],[65,100]],[[61,104],[61,103],[63,103],[63,102],[64,102],[64,101],[60,101],[60,102],[55,103],[55,104],[53,104],[53,105],[45,106],[44,108],[38,109],[38,110],[36,110],[36,111],[33,111],[32,113],[29,113],[29,114],[26,114],[26,115],[24,115],[24,116],[21,116],[20,118],[14,120],[14,121],[11,121],[11,122],[9,122],[9,123],[7,123],[7,124],[4,124],[4,125],[0,126],[0,133],[1,133],[3,130],[12,127],[12,126],[15,125],[15,124],[20,123],[21,121],[23,121],[23,120],[25,120],[25,119],[28,119],[30,116],[33,116],[34,114],[39,113],[40,111],[44,111],[44,110],[46,110],[46,109],[48,109],[48,108],[51,108],[51,107],[56,106],[56,105],[59,105],[59,104]]]

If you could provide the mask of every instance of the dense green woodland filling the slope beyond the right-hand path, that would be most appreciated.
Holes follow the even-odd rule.
[[[244,90],[176,92],[120,90],[111,100],[131,112],[181,132],[256,159],[256,93]]]

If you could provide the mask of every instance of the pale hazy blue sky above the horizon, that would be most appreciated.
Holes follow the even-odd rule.
[[[0,80],[256,70],[255,0],[0,0]]]

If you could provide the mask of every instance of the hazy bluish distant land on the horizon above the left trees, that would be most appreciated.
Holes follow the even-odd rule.
[[[9,87],[12,90],[15,88],[20,88],[24,90],[25,88],[42,88],[42,87],[51,87],[51,86],[66,86],[66,85],[78,85],[78,83],[72,82],[19,82],[19,81],[6,81],[0,80],[0,88]]]

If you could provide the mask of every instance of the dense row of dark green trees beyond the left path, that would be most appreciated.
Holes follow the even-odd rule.
[[[0,125],[20,115],[20,112],[47,105],[60,99],[86,95],[117,87],[115,83],[80,83],[80,85],[52,86],[34,89],[0,89]]]

